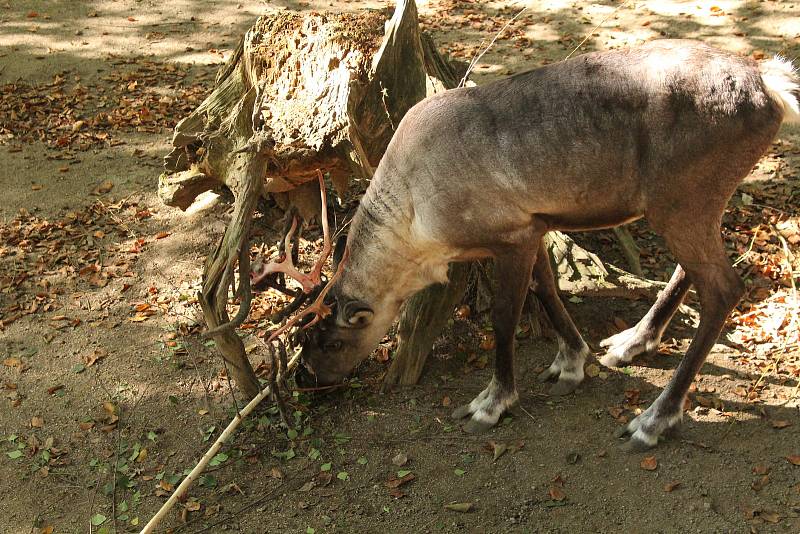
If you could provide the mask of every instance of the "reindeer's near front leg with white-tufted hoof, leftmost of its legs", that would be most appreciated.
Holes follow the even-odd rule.
[[[453,412],[461,419],[471,415],[464,430],[470,433],[488,430],[500,416],[517,402],[514,380],[514,331],[528,292],[531,271],[536,261],[538,240],[523,247],[503,250],[495,256],[496,290],[492,322],[497,344],[495,371],[489,385],[469,404]]]

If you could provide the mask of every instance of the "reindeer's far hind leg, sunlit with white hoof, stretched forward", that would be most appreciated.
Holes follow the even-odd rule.
[[[636,326],[600,342],[600,346],[607,349],[600,363],[606,367],[620,367],[630,363],[639,354],[657,350],[664,330],[690,287],[692,284],[686,277],[686,271],[678,265],[667,287],[659,293],[653,307]]]

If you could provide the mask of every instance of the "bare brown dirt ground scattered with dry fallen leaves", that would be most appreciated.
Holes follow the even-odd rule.
[[[439,46],[469,59],[523,4],[418,5]],[[183,213],[159,203],[171,128],[259,14],[387,6],[0,0],[0,532],[138,531],[227,424],[233,402],[213,346],[195,333],[194,294],[229,205],[211,199]],[[800,2],[546,0],[511,30],[481,58],[478,83],[563,59],[584,38],[579,52],[687,37],[798,58]],[[567,398],[534,380],[555,342],[520,339],[520,405],[482,436],[448,420],[451,404],[491,374],[475,334],[482,320],[457,320],[418,387],[381,393],[388,363],[376,360],[313,406],[296,395],[288,433],[274,410],[246,421],[163,527],[800,532],[791,268],[783,283],[764,275],[785,261],[775,225],[797,221],[797,134],[782,130],[735,195],[726,238],[733,258],[744,254],[737,268],[749,301],[699,375],[682,432],[651,453],[619,452],[613,432],[666,384],[690,339],[691,310],[658,355],[621,370],[590,362],[592,376]],[[633,230],[646,273],[663,278],[671,260],[645,229]],[[745,253],[751,235],[763,253]],[[619,259],[608,234],[587,243]],[[580,300],[568,307],[595,354],[648,306]],[[257,364],[258,347],[248,346]]]

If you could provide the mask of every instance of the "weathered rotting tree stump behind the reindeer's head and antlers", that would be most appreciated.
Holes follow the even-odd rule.
[[[212,94],[175,128],[159,179],[162,201],[186,209],[223,186],[235,198],[228,228],[206,261],[199,301],[209,335],[249,397],[258,393],[258,380],[235,327],[249,311],[248,233],[260,197],[274,195],[304,217],[314,215],[303,207],[317,204],[318,170],[340,194],[351,176],[371,177],[403,115],[463,75],[420,32],[413,1],[399,1],[384,23],[378,11],[260,17],[220,69]],[[241,304],[231,320],[237,264]],[[417,298],[438,302],[436,291]],[[451,293],[452,299],[457,292]],[[449,315],[435,305],[428,313],[434,323]],[[421,328],[409,342],[420,345],[417,332],[431,338]]]

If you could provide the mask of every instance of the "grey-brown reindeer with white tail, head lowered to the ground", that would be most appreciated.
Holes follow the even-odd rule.
[[[625,365],[655,350],[692,286],[702,309],[670,383],[619,433],[630,436],[628,450],[653,447],[680,422],[689,386],[743,293],[720,235],[725,205],[781,123],[800,121],[798,97],[798,78],[781,58],[757,64],[660,40],[420,102],[353,218],[347,257],[302,338],[298,383],[340,382],[405,299],[445,282],[450,262],[492,257],[494,375],[453,417],[469,417],[464,430],[480,432],[517,401],[514,330],[532,277],[559,346],[539,379],[555,382],[553,395],[571,393],[590,350],[557,294],[542,236],[645,218],[679,265],[636,326],[601,342],[601,363]]]

